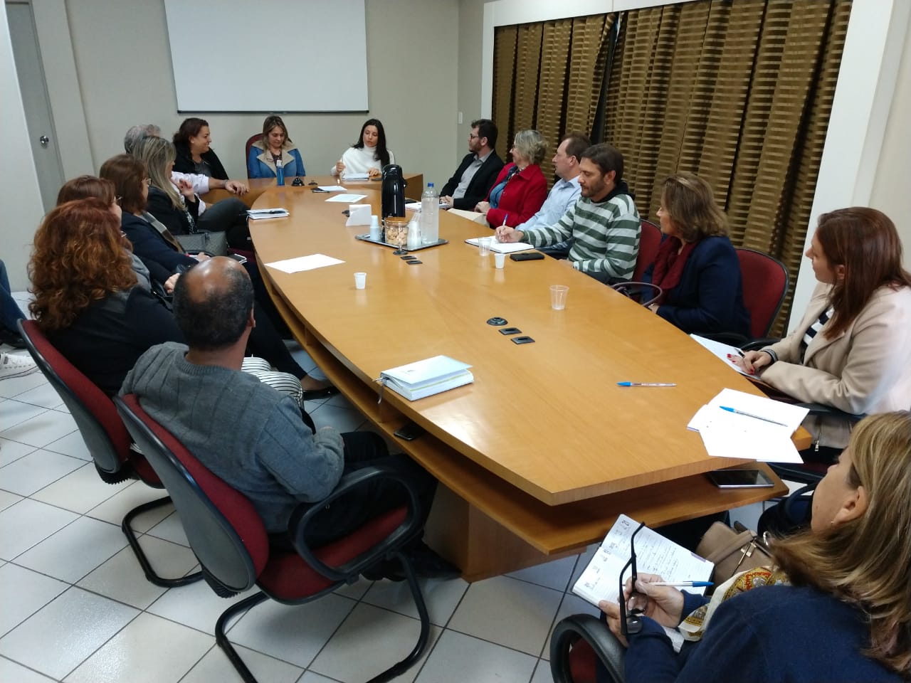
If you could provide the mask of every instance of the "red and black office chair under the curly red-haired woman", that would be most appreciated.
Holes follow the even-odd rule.
[[[47,341],[36,321],[19,321],[19,332],[26,341],[28,352],[35,359],[38,369],[67,404],[79,433],[86,442],[88,452],[92,454],[95,469],[102,481],[107,484],[119,484],[127,479],[141,479],[149,486],[163,488],[159,477],[148,466],[142,454],[130,447],[132,443],[127,428],[124,427],[114,403],[107,395],[89,382],[86,375],[79,372],[51,342]],[[200,572],[178,578],[162,578],[152,569],[131,526],[137,515],[169,503],[170,498],[165,496],[134,507],[124,516],[120,528],[127,536],[129,546],[133,549],[148,581],[156,586],[186,586],[199,581],[202,578]]]

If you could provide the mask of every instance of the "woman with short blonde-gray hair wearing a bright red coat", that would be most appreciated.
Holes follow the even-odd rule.
[[[494,187],[476,211],[487,217],[487,225],[515,228],[537,213],[548,197],[548,181],[540,163],[548,153],[548,143],[537,130],[520,130],[513,138],[512,163],[500,170]]]

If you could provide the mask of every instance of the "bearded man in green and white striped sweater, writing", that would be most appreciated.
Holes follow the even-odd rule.
[[[555,225],[496,229],[501,242],[547,247],[573,239],[573,268],[604,282],[630,280],[639,255],[639,211],[623,178],[623,155],[610,145],[592,145],[579,161],[581,197]]]

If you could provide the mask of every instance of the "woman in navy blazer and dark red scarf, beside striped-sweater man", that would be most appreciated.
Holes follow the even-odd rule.
[[[740,261],[709,184],[692,173],[670,176],[658,217],[664,238],[645,277],[663,293],[650,309],[688,333],[749,338]]]

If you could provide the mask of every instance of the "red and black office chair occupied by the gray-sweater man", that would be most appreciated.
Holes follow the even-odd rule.
[[[200,559],[206,582],[219,596],[230,597],[251,586],[261,591],[231,605],[215,625],[219,647],[244,681],[255,683],[250,669],[225,635],[228,622],[271,597],[286,605],[298,605],[353,583],[369,567],[394,556],[404,573],[421,618],[421,633],[411,653],[374,677],[380,683],[402,674],[421,657],[430,632],[424,597],[410,561],[401,547],[421,532],[420,504],[415,492],[396,474],[381,468],[364,468],[343,477],[332,494],[315,505],[303,504],[292,515],[291,530],[297,553],[271,548],[260,516],[251,502],[212,474],[193,454],[159,423],[152,420],[133,394],[117,397],[117,409],[129,433],[140,445],[148,462],[174,498],[184,531]],[[312,549],[304,530],[325,505],[375,477],[387,477],[404,486],[411,498],[407,507],[379,515],[360,529],[329,545]]]

